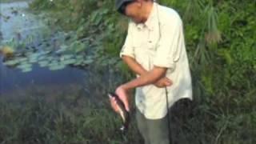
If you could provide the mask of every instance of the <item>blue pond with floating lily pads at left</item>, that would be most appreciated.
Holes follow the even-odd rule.
[[[0,54],[0,96],[31,86],[82,87],[86,70],[77,66],[84,62],[84,55],[65,50],[62,41],[70,36],[52,30],[28,7],[28,2],[1,3],[0,47],[14,49],[14,56],[6,60]]]

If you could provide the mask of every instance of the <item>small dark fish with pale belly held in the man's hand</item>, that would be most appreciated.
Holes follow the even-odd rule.
[[[109,93],[108,96],[109,98],[115,98],[117,101],[118,114],[122,119],[122,126],[120,130],[122,131],[122,133],[126,133],[130,123],[130,113],[126,110],[124,103],[120,100],[117,94]]]

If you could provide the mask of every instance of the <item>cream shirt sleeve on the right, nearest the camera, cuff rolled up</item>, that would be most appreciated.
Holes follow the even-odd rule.
[[[161,38],[157,45],[154,66],[174,70],[184,46],[182,20],[174,17],[170,22],[162,24],[160,29]]]

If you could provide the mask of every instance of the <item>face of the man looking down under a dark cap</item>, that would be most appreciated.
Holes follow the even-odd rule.
[[[141,9],[141,2],[131,2],[126,6],[125,14],[127,17],[131,18],[135,23],[140,23],[142,22]]]

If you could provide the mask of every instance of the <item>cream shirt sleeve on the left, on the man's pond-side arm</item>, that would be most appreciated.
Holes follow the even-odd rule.
[[[131,58],[134,58],[134,46],[132,45],[132,24],[129,22],[128,26],[128,32],[126,36],[126,41],[124,45],[122,46],[122,50],[119,54],[120,58],[122,58],[122,55],[130,56]]]

